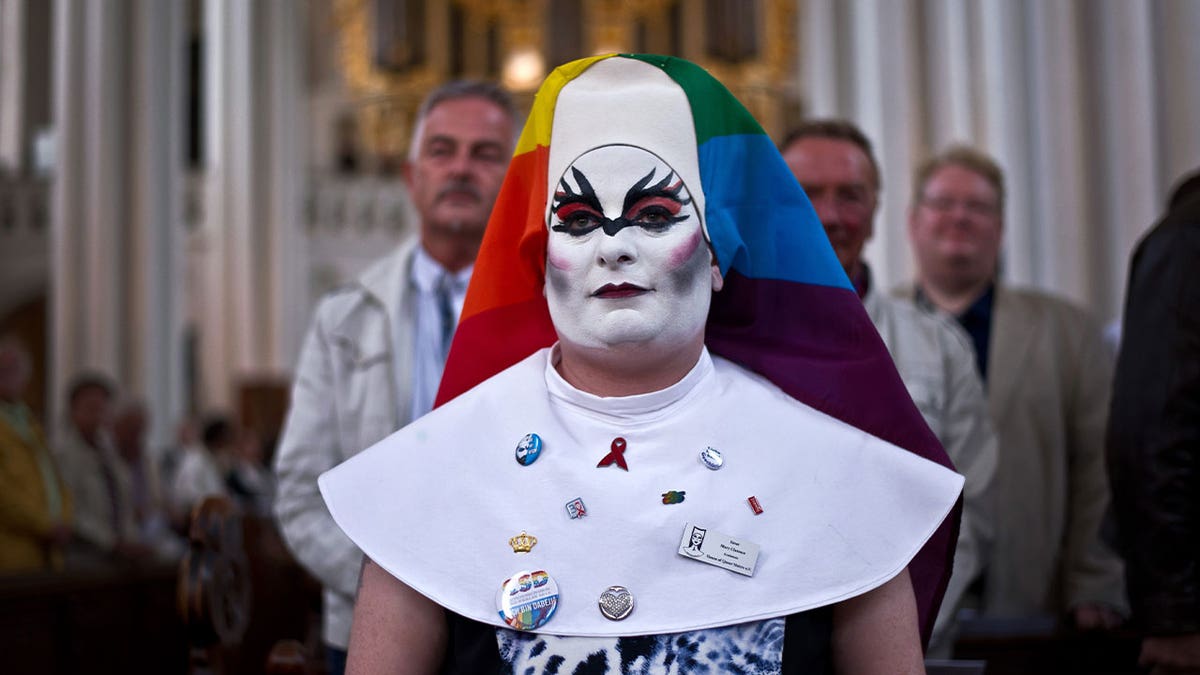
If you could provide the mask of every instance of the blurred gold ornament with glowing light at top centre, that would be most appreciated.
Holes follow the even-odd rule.
[[[336,0],[340,64],[368,165],[404,156],[421,98],[490,78],[528,110],[560,62],[674,54],[708,68],[773,137],[800,115],[797,0]]]

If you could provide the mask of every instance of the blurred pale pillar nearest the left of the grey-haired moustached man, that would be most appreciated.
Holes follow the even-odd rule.
[[[204,2],[203,408],[230,408],[239,382],[283,377],[307,306],[302,4]]]

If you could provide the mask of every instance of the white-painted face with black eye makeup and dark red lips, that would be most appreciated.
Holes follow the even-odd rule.
[[[546,300],[560,341],[682,346],[703,334],[713,271],[688,186],[632,145],[589,150],[551,198]]]

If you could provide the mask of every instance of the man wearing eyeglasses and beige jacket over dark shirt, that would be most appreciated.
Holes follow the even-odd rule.
[[[1121,561],[1099,533],[1112,380],[1100,327],[1066,300],[997,280],[1004,178],[995,161],[952,148],[923,163],[913,185],[917,279],[905,293],[971,335],[1000,436],[983,611],[1114,628],[1128,605]]]

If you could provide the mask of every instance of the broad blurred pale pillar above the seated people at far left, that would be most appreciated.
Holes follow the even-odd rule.
[[[184,410],[185,10],[54,2],[52,428],[83,370],[145,399],[155,446]]]

